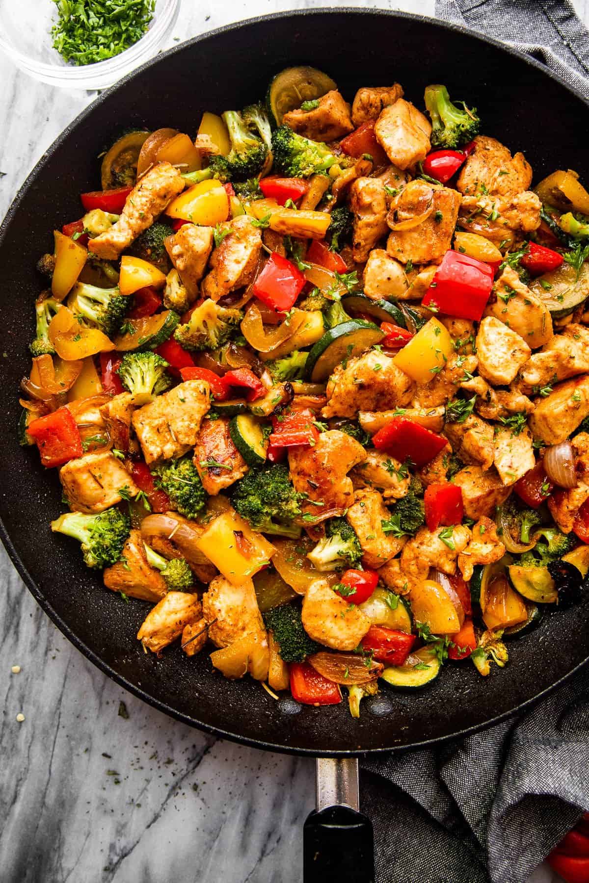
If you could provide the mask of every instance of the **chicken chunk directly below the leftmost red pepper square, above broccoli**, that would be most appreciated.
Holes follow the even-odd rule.
[[[123,499],[119,493],[122,488],[125,496],[139,493],[125,466],[109,450],[70,460],[59,470],[59,480],[74,512],[109,509]]]

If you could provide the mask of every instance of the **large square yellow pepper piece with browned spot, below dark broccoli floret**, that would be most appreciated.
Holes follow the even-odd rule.
[[[223,512],[208,525],[196,547],[232,585],[243,585],[276,552],[275,547],[261,533],[254,532],[233,509]]]

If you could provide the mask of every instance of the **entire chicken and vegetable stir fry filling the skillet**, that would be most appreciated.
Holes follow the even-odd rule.
[[[22,381],[51,529],[155,605],[144,648],[355,716],[501,668],[589,570],[589,193],[425,104],[291,68],[194,141],[125,133]]]

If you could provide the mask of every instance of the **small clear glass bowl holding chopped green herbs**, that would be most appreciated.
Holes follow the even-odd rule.
[[[96,64],[70,64],[53,48],[51,0],[0,0],[0,49],[35,79],[51,86],[104,89],[155,56],[176,24],[180,0],[156,0],[147,33],[125,52]]]

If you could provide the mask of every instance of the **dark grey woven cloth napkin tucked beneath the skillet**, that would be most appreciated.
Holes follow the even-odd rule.
[[[589,33],[569,3],[436,0],[436,13],[510,42],[589,97]],[[524,883],[589,811],[589,670],[476,736],[362,770],[377,883]]]

